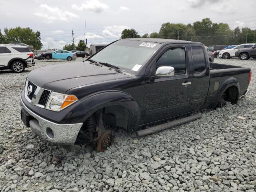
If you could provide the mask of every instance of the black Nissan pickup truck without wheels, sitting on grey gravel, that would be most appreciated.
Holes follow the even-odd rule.
[[[210,63],[202,43],[123,39],[85,62],[30,72],[21,117],[49,142],[70,150],[75,142],[92,142],[104,151],[113,126],[143,136],[195,120],[200,115],[188,114],[236,104],[250,79],[250,68]]]

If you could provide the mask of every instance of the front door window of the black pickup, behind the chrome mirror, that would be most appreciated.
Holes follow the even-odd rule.
[[[160,66],[172,66],[174,75],[186,74],[186,54],[184,48],[171,48],[156,61],[156,69]]]

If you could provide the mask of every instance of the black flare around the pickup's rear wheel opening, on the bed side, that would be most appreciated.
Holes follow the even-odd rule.
[[[235,86],[238,90],[238,93],[240,92],[240,85],[239,85],[238,80],[234,77],[230,77],[230,78],[226,79],[224,82],[222,82],[222,84],[219,86],[218,91],[212,100],[212,104],[216,105],[219,102],[219,100],[221,99],[224,92],[231,86]],[[215,106],[213,106],[213,107],[215,107]]]

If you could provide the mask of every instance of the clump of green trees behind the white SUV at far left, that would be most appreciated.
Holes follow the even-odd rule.
[[[20,42],[32,45],[34,49],[40,50],[43,46],[41,42],[40,32],[33,32],[29,27],[27,28],[4,28],[4,38],[6,43]]]

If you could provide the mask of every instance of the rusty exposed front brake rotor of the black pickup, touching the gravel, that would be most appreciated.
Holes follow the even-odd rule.
[[[113,135],[111,130],[106,130],[97,141],[97,150],[103,152],[113,143]]]

